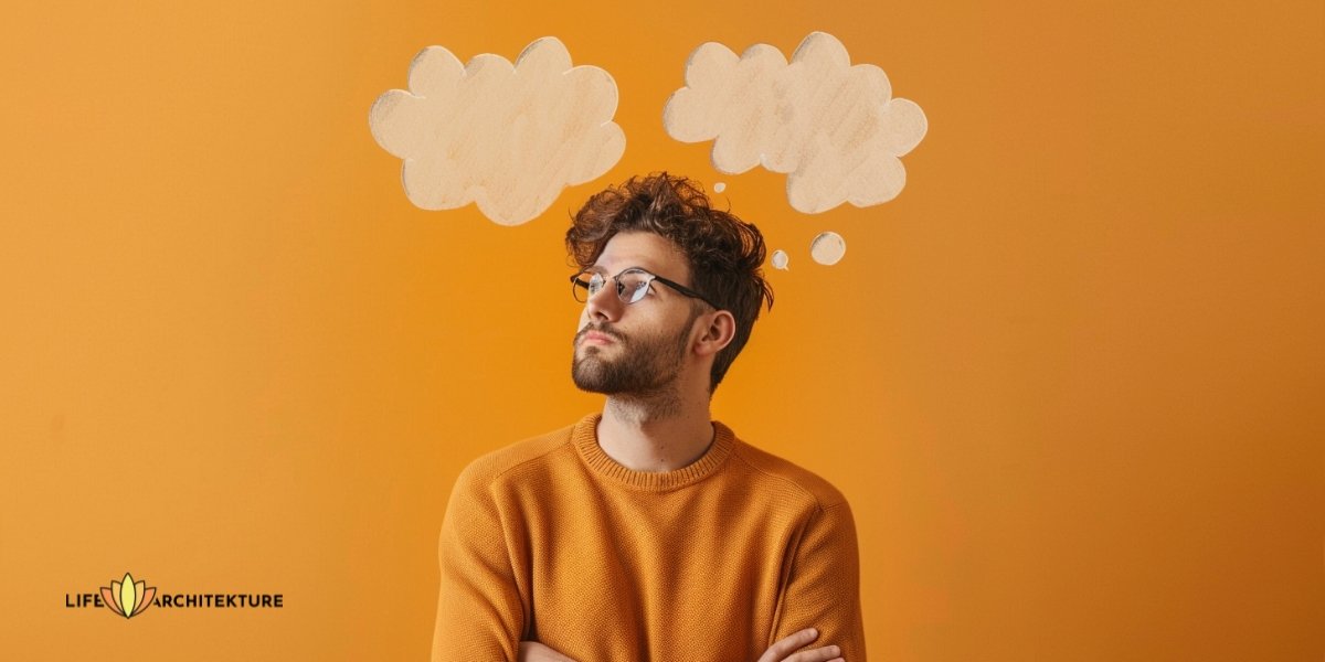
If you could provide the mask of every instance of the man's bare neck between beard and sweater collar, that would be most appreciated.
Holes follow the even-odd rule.
[[[621,397],[607,399],[598,424],[598,445],[616,463],[635,471],[674,471],[704,457],[713,442],[708,399],[655,408]]]

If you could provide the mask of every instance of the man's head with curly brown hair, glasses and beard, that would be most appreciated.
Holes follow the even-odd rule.
[[[772,289],[759,269],[765,245],[758,228],[712,209],[704,191],[684,177],[632,177],[595,195],[575,214],[566,248],[580,269],[598,274],[594,287],[602,287],[588,298],[582,318],[582,335],[586,330],[590,335],[576,338],[575,379],[588,391],[611,393],[610,388],[590,387],[629,387],[617,392],[640,392],[674,377],[690,351],[690,332],[697,330],[700,354],[714,352],[708,376],[712,393],[750,339],[761,305],[767,301],[772,307]],[[641,282],[640,294],[625,290]],[[635,297],[639,301],[629,303]],[[627,307],[641,324],[629,324],[631,335],[623,339],[612,318],[624,315]],[[712,334],[706,324],[713,326]],[[603,338],[595,339],[594,331],[602,331]],[[710,335],[717,346],[704,344]],[[613,340],[632,352],[587,360],[608,352],[603,346]],[[590,344],[602,352],[582,348]]]

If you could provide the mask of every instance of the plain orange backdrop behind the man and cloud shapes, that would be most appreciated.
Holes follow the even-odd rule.
[[[872,659],[1320,659],[1325,5],[855,4],[7,8],[0,657],[427,658],[456,474],[599,406],[567,213],[668,169],[791,256],[714,416],[847,494]],[[889,204],[661,128],[701,42],[815,29],[929,117]],[[519,228],[413,208],[372,101],[547,34],[621,163]],[[64,606],[126,571],[286,606]]]

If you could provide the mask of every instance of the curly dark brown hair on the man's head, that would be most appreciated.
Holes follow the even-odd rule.
[[[772,310],[772,287],[763,279],[763,234],[730,212],[713,209],[704,188],[686,177],[655,172],[631,177],[591,197],[566,230],[566,249],[580,269],[594,265],[620,232],[652,232],[676,245],[690,267],[690,287],[735,318],[731,343],[713,359],[709,392],[750,340],[759,306]],[[702,303],[693,299],[696,315]]]

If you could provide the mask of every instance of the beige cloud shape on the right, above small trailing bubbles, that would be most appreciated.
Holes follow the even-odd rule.
[[[882,69],[852,66],[841,42],[823,32],[807,36],[790,64],[768,44],[739,57],[722,44],[701,45],[662,124],[681,142],[713,140],[713,167],[722,172],[763,166],[787,173],[787,200],[804,213],[897,197],[906,184],[900,156],[929,127],[920,106],[892,98]]]

